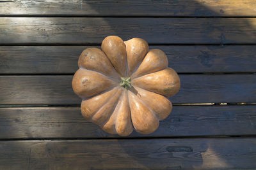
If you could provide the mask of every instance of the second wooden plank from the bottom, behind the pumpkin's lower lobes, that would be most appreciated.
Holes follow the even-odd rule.
[[[256,106],[174,106],[156,132],[129,137],[255,135]],[[0,108],[0,139],[120,138],[86,121],[80,108]]]

